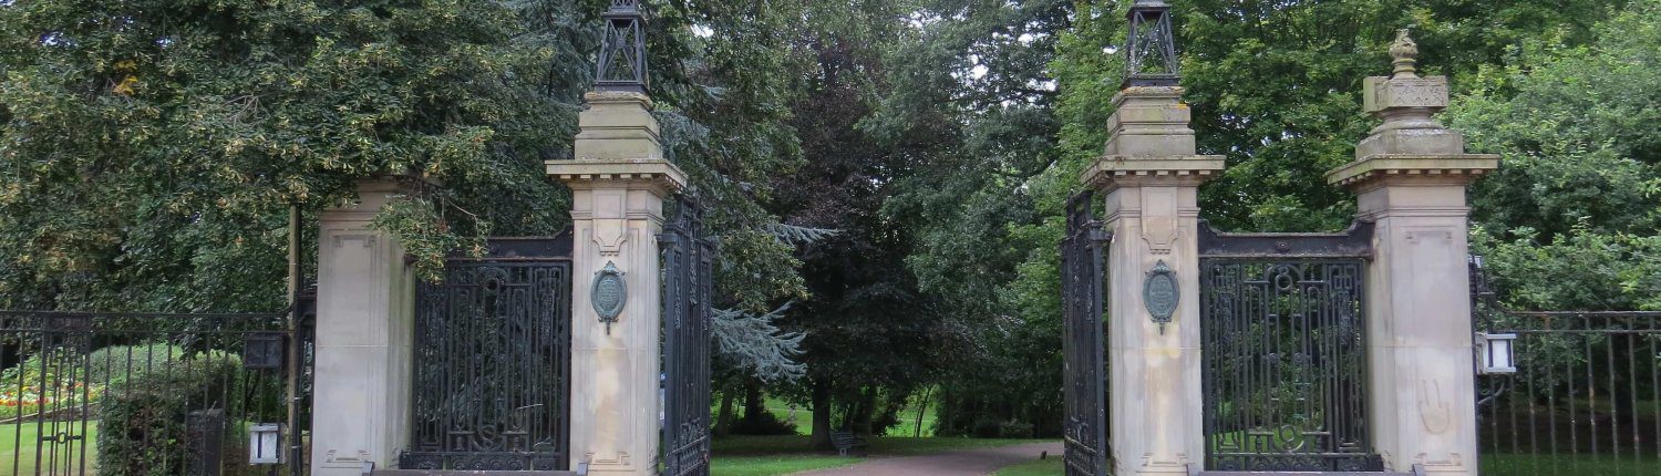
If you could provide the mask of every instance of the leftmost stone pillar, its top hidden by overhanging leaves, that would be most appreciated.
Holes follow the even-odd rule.
[[[312,474],[395,468],[410,436],[415,277],[404,245],[370,227],[409,182],[362,181],[359,201],[322,212]]]

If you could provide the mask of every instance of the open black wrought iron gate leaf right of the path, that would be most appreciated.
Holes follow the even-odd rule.
[[[1106,365],[1101,327],[1101,245],[1108,236],[1090,212],[1090,191],[1066,204],[1061,240],[1063,431],[1068,476],[1108,474]]]

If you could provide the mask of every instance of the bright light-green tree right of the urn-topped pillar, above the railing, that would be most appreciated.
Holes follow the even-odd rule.
[[[1472,211],[1507,304],[1661,308],[1661,2],[1633,2],[1591,45],[1533,41],[1477,75],[1445,121],[1503,154]]]

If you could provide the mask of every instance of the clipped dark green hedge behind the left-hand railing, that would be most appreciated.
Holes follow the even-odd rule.
[[[241,388],[241,362],[224,353],[174,360],[126,380],[113,381],[98,401],[100,474],[184,474],[193,443],[188,416],[193,411],[221,411],[224,441],[236,435],[226,411]],[[221,443],[224,443],[221,441]],[[198,441],[201,443],[201,441]],[[234,444],[223,446],[226,451]]]

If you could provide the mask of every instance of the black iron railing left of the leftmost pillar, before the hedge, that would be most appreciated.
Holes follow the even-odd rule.
[[[0,310],[0,474],[304,474],[289,318]]]

